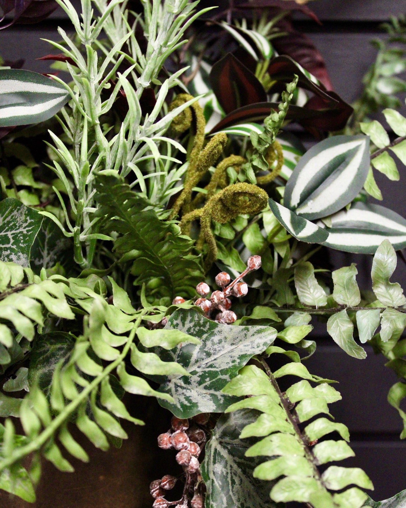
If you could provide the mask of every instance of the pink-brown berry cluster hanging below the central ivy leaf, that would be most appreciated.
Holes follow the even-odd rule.
[[[189,426],[189,420],[174,416],[171,420],[171,429],[158,436],[159,448],[177,451],[176,461],[184,470],[185,484],[188,488],[185,488],[184,495],[179,501],[167,501],[166,491],[173,489],[178,479],[166,474],[161,480],[154,480],[150,485],[151,496],[155,499],[153,508],[168,508],[171,505],[176,505],[176,508],[188,506],[203,508],[204,485],[200,477],[198,457],[207,439],[206,432],[201,427],[206,426],[209,419],[209,414],[202,413],[195,416],[193,425]]]

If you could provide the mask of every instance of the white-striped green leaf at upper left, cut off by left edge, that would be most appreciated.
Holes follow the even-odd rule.
[[[67,103],[63,85],[32,71],[0,69],[0,126],[48,120]]]

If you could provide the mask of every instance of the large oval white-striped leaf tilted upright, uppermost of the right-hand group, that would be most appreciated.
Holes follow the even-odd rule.
[[[297,163],[286,184],[284,204],[310,220],[331,215],[357,196],[368,170],[368,137],[327,138]]]

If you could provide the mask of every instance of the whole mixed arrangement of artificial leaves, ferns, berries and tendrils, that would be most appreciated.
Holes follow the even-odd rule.
[[[334,380],[306,367],[312,320],[360,361],[371,345],[399,378],[406,437],[406,298],[390,280],[406,220],[370,202],[374,171],[399,180],[392,155],[406,164],[406,118],[371,91],[400,83],[399,51],[381,47],[354,113],[315,48],[308,68],[295,59],[304,5],[35,4],[2,7],[24,22],[57,4],[75,34],[49,41],[57,76],[0,68],[0,488],[34,502],[42,460],[87,462],[74,426],[120,447],[121,419],[144,424],[127,392],[173,415],[158,446],[181,467],[152,481],[154,508],[400,507],[404,492],[375,503],[362,469],[326,466],[354,452]],[[321,266],[328,249],[373,255],[371,291],[354,263]]]

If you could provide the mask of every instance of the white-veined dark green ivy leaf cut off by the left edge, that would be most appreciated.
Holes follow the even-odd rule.
[[[29,267],[31,246],[43,217],[21,201],[7,198],[0,202],[0,261]]]

